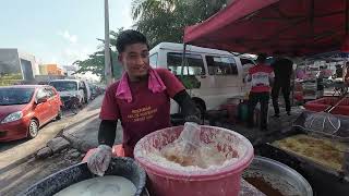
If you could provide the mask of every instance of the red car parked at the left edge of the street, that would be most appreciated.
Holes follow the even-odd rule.
[[[0,142],[36,137],[43,125],[61,119],[61,105],[48,85],[0,87]]]

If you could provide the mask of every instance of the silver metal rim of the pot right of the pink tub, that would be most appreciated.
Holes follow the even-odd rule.
[[[261,175],[273,175],[278,182],[286,182],[291,185],[297,193],[303,196],[313,196],[313,189],[308,181],[288,166],[269,158],[256,156],[244,174],[258,173]],[[273,184],[273,183],[272,183]],[[298,194],[297,194],[298,195]]]

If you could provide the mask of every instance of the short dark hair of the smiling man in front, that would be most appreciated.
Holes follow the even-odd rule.
[[[121,32],[117,38],[117,50],[119,53],[123,52],[127,46],[133,44],[145,44],[149,49],[146,37],[141,32],[127,29]]]

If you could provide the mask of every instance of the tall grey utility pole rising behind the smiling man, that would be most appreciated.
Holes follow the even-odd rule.
[[[110,63],[110,38],[109,38],[109,3],[105,0],[105,78],[107,86],[112,83]]]

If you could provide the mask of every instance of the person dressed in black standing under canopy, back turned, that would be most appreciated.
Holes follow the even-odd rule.
[[[280,90],[284,95],[286,112],[288,115],[291,114],[291,102],[290,102],[290,91],[291,91],[291,75],[292,75],[293,62],[287,58],[276,57],[276,60],[272,64],[275,73],[275,81],[272,89],[272,99],[274,107],[274,117],[280,117],[279,109],[279,94]]]

